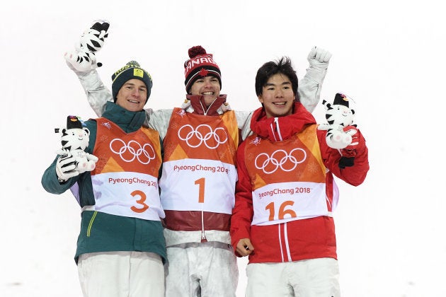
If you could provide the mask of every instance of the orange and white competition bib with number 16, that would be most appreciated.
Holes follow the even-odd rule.
[[[326,168],[316,125],[285,141],[249,136],[246,169],[251,176],[253,225],[272,225],[331,216],[326,196]]]

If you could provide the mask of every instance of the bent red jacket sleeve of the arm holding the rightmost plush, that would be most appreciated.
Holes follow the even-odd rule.
[[[365,145],[365,139],[358,130],[358,146],[355,148],[356,156],[355,163],[351,167],[339,168],[339,160],[341,153],[336,148],[331,148],[327,145],[325,130],[317,130],[319,139],[319,146],[321,147],[321,156],[331,173],[339,177],[341,180],[350,185],[358,186],[364,182],[367,172],[369,171],[369,153]]]

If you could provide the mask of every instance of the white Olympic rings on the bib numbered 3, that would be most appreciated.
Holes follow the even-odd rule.
[[[113,144],[115,145],[113,146]],[[115,150],[114,147],[118,149]],[[130,140],[128,144],[125,144],[125,141],[122,139],[115,138],[110,142],[110,150],[119,155],[122,161],[125,162],[132,162],[137,158],[139,163],[149,164],[156,156],[155,150],[150,144],[141,146],[135,140]]]

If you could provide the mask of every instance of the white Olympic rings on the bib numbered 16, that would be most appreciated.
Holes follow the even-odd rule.
[[[268,153],[260,153],[254,165],[257,169],[263,170],[266,174],[275,173],[278,168],[285,172],[295,170],[298,164],[303,163],[307,159],[307,152],[302,148],[294,148],[290,153],[279,149],[275,151],[271,156]]]

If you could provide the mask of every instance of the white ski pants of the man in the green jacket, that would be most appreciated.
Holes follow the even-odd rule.
[[[154,252],[92,252],[77,269],[84,297],[164,296],[164,266]]]

